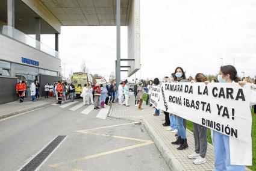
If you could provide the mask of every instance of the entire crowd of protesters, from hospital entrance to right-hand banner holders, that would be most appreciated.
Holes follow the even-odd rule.
[[[165,76],[163,82],[234,82],[234,84],[239,84],[243,86],[245,84],[250,84],[252,90],[256,90],[256,79],[245,77],[238,78],[237,70],[234,66],[221,66],[219,70],[219,75],[217,78],[211,78],[208,80],[207,76],[203,73],[197,73],[195,78],[189,76],[186,77],[182,67],[176,67],[174,72],[169,76]],[[237,83],[236,83],[237,82]],[[152,106],[150,99],[152,95],[152,87],[161,86],[161,82],[158,78],[148,81],[146,87],[146,105]],[[32,101],[39,99],[39,82],[32,81],[30,85],[31,98]],[[61,104],[61,101],[67,102],[67,99],[74,101],[75,94],[75,85],[73,82],[67,84],[64,81],[52,82],[45,84],[45,98],[56,97],[57,104]],[[16,92],[19,96],[19,101],[23,102],[23,97],[25,95],[25,90],[27,85],[23,81],[19,81],[16,85]],[[134,85],[134,97],[135,97],[135,106],[139,110],[142,110],[143,103],[143,82],[139,82]],[[108,103],[118,102],[119,105],[125,107],[130,107],[128,100],[130,99],[130,87],[127,80],[120,81],[118,85],[115,82],[108,82],[106,84],[96,83],[93,85],[84,84],[83,92],[81,92],[81,97],[83,98],[84,105],[89,105],[90,103],[94,105],[94,109],[104,108]],[[256,98],[256,97],[255,97]],[[256,105],[254,105],[254,112],[256,113]],[[186,127],[187,120],[183,117],[175,115],[175,113],[167,113],[163,111],[165,116],[165,122],[163,126],[168,126],[167,131],[171,131],[177,138],[176,141],[172,142],[172,145],[178,145],[177,150],[181,151],[189,148],[187,143]],[[160,109],[155,108],[154,116],[160,115]],[[188,155],[187,157],[193,159],[194,164],[203,164],[206,163],[206,154],[207,154],[207,128],[193,123],[193,135],[195,141],[195,152]],[[212,131],[213,146],[214,146],[214,170],[245,170],[245,166],[233,165],[230,163],[230,151],[229,151],[229,137],[227,135],[221,134],[217,131]]]

